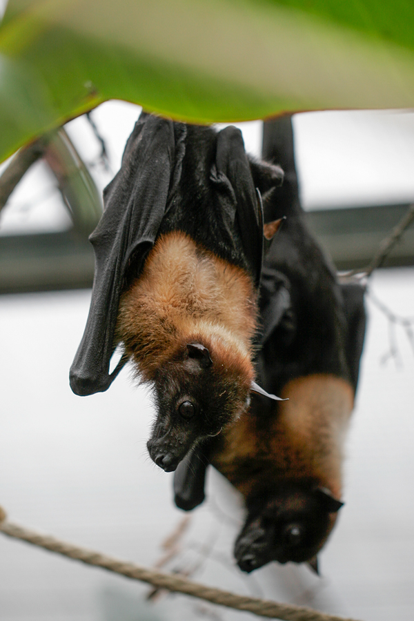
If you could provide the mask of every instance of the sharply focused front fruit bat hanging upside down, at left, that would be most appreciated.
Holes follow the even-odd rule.
[[[282,178],[279,166],[248,159],[234,127],[217,132],[143,112],[103,192],[70,386],[77,395],[106,391],[130,359],[152,388],[148,450],[166,471],[235,420],[251,391],[267,394],[252,362],[264,233],[274,228],[264,224],[262,195],[266,204]]]

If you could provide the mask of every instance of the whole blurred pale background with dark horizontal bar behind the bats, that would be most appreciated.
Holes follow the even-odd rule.
[[[321,578],[294,564],[270,564],[252,575],[237,569],[242,503],[213,469],[207,502],[188,517],[175,509],[172,475],[146,454],[152,405],[128,367],[107,393],[71,393],[68,371],[93,274],[90,222],[70,200],[73,184],[80,175],[92,188],[92,179],[98,193],[91,189],[88,200],[99,201],[139,110],[109,101],[92,111],[92,123],[86,116],[68,123],[55,153],[63,141],[74,177],[59,177],[52,153],[47,164],[30,168],[1,211],[1,506],[30,528],[237,593],[364,621],[411,620],[413,337],[411,323],[395,326],[373,297],[366,299],[368,331],[347,442],[346,505],[322,551]],[[414,201],[413,112],[308,112],[295,115],[293,126],[311,228],[339,270],[365,266]],[[239,127],[246,150],[259,156],[262,122]],[[413,226],[386,264],[374,273],[371,293],[414,322]],[[151,595],[148,586],[0,536],[0,621],[250,618],[181,595]]]

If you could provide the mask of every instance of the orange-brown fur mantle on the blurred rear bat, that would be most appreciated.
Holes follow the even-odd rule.
[[[230,426],[213,465],[245,497],[286,478],[313,480],[340,497],[353,388],[333,375],[310,375],[289,382],[282,396],[289,400],[266,420],[249,411]]]

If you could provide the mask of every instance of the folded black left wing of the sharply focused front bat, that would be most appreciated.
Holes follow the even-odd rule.
[[[181,159],[184,150],[181,148]],[[70,368],[77,395],[106,391],[121,366],[109,373],[124,276],[133,257],[139,272],[155,242],[166,211],[175,161],[172,121],[141,115],[118,174],[104,191],[105,210],[90,236],[95,250],[95,279],[85,332]],[[126,362],[125,360],[123,361]]]

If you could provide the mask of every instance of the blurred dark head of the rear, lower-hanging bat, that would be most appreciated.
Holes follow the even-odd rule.
[[[296,483],[253,498],[235,542],[239,568],[250,573],[275,560],[314,562],[342,504],[325,488]]]

